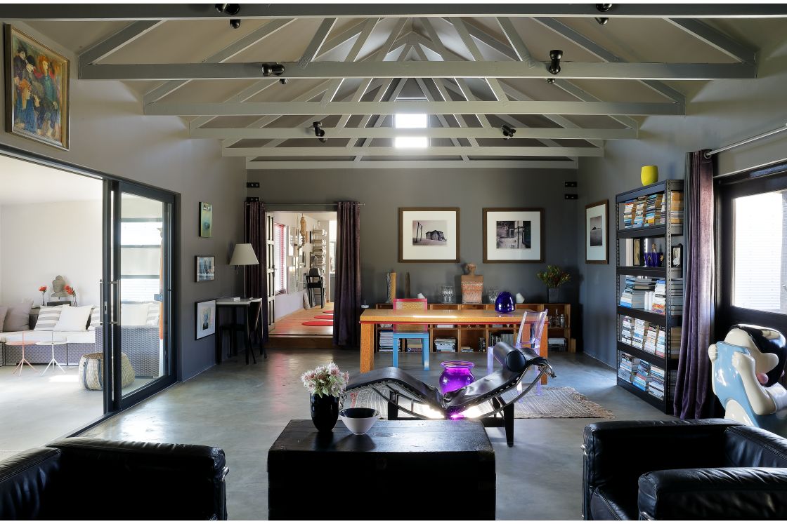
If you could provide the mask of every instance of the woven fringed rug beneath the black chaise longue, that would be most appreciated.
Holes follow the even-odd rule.
[[[573,387],[542,387],[541,397],[535,394],[535,390],[525,395],[514,405],[515,419],[611,419],[612,413],[608,409],[602,408],[593,401],[589,401],[584,395],[580,394]],[[518,393],[516,390],[509,391],[503,395],[504,400],[508,401],[515,398]],[[349,405],[348,405],[349,402]],[[401,401],[404,403],[404,401]],[[345,407],[372,408],[380,412],[380,418],[386,419],[388,408],[386,401],[380,398],[370,388],[363,388],[349,393],[349,398],[345,401]],[[434,416],[441,418],[438,413],[431,412],[431,409],[421,409],[418,405],[413,409],[416,413],[424,416]],[[490,412],[492,406],[489,402],[467,410],[465,416],[473,417]],[[431,413],[430,413],[431,412]],[[401,416],[407,416],[400,412]]]

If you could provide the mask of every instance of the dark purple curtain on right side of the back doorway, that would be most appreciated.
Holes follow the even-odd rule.
[[[360,347],[360,205],[339,202],[336,224],[334,344]]]

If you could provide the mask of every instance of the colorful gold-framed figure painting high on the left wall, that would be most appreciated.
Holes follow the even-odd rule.
[[[68,59],[6,25],[6,130],[68,150]]]

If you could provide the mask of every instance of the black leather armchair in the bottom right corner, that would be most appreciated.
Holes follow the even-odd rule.
[[[787,519],[787,439],[724,419],[585,428],[586,520]]]

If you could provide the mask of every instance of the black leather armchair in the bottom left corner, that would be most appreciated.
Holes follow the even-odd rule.
[[[0,463],[0,520],[226,520],[224,451],[65,438]]]

